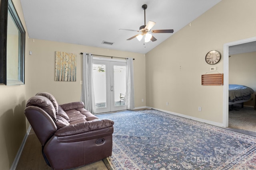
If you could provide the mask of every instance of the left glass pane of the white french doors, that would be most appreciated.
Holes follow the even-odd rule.
[[[96,109],[106,107],[106,65],[93,64],[93,83]]]

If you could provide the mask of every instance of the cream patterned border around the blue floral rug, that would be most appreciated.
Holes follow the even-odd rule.
[[[255,164],[255,166],[253,166],[253,167],[256,167],[256,162],[254,162],[254,160],[256,160],[256,145],[255,145],[256,137],[253,137],[253,136],[245,135],[245,134],[235,132],[235,131],[230,131],[229,129],[224,129],[222,127],[209,125],[207,123],[198,122],[198,121],[195,121],[192,119],[187,119],[184,117],[172,115],[170,113],[165,113],[165,112],[154,110],[154,109],[142,110],[142,111],[128,111],[128,112],[126,111],[125,113],[124,112],[106,113],[106,114],[97,115],[97,116],[99,118],[101,116],[106,116],[106,115],[115,115],[116,117],[126,117],[126,116],[130,116],[132,114],[141,114],[141,113],[150,113],[150,112],[154,112],[154,114],[162,116],[163,118],[176,119],[180,122],[184,122],[186,124],[191,124],[196,127],[204,128],[209,131],[215,131],[218,133],[222,133],[222,134],[227,135],[232,138],[236,137],[237,139],[244,141],[246,143],[250,143],[252,145],[251,147],[247,148],[246,150],[243,150],[243,152],[240,152],[236,156],[233,156],[232,158],[230,158],[223,164],[220,164],[220,166],[218,166],[218,168],[216,168],[216,170],[235,170],[235,169],[238,169],[240,166],[242,166],[242,169],[244,169],[244,164],[246,164],[246,163],[248,164],[248,161],[249,161],[248,166],[250,166],[250,164],[252,163],[252,164]],[[114,169],[114,170],[119,170],[119,169],[124,169],[124,168],[129,169],[129,167],[123,167],[121,164],[124,162],[131,161],[132,159],[128,160],[128,158],[133,158],[136,156],[129,150],[126,150],[125,146],[123,146],[123,144],[120,143],[120,141],[118,141],[114,135],[113,135],[113,148],[118,149],[121,152],[121,154],[119,153],[119,155],[121,155],[122,158],[118,158],[118,155],[116,155],[114,152],[112,153],[112,156],[108,159],[110,165],[112,166],[112,169]],[[252,153],[254,153],[254,154],[252,154]],[[126,155],[126,156],[124,156],[124,155]],[[116,162],[114,160],[115,158],[118,158],[118,160],[122,160],[124,162]],[[253,162],[251,160],[246,160],[246,158],[251,159]],[[135,169],[145,169],[145,170],[150,169],[138,160],[136,162],[130,162],[130,164],[132,164],[133,168],[135,168]]]

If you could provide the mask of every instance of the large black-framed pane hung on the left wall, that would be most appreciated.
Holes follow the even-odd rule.
[[[12,0],[1,0],[0,84],[24,84],[25,36]]]

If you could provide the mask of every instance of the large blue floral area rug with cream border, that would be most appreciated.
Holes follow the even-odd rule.
[[[153,109],[97,117],[114,121],[114,170],[256,169],[256,137]]]

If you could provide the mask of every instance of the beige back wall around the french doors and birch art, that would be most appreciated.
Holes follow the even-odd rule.
[[[28,51],[32,51],[32,55],[26,58],[27,99],[38,92],[44,91],[53,94],[59,104],[80,101],[80,80],[82,80],[82,55],[80,53],[87,52],[97,55],[134,58],[135,107],[146,106],[146,68],[143,54],[39,39],[29,39],[28,43],[30,44]],[[76,82],[59,82],[54,80],[55,51],[76,54]],[[144,99],[144,102],[141,99]]]

